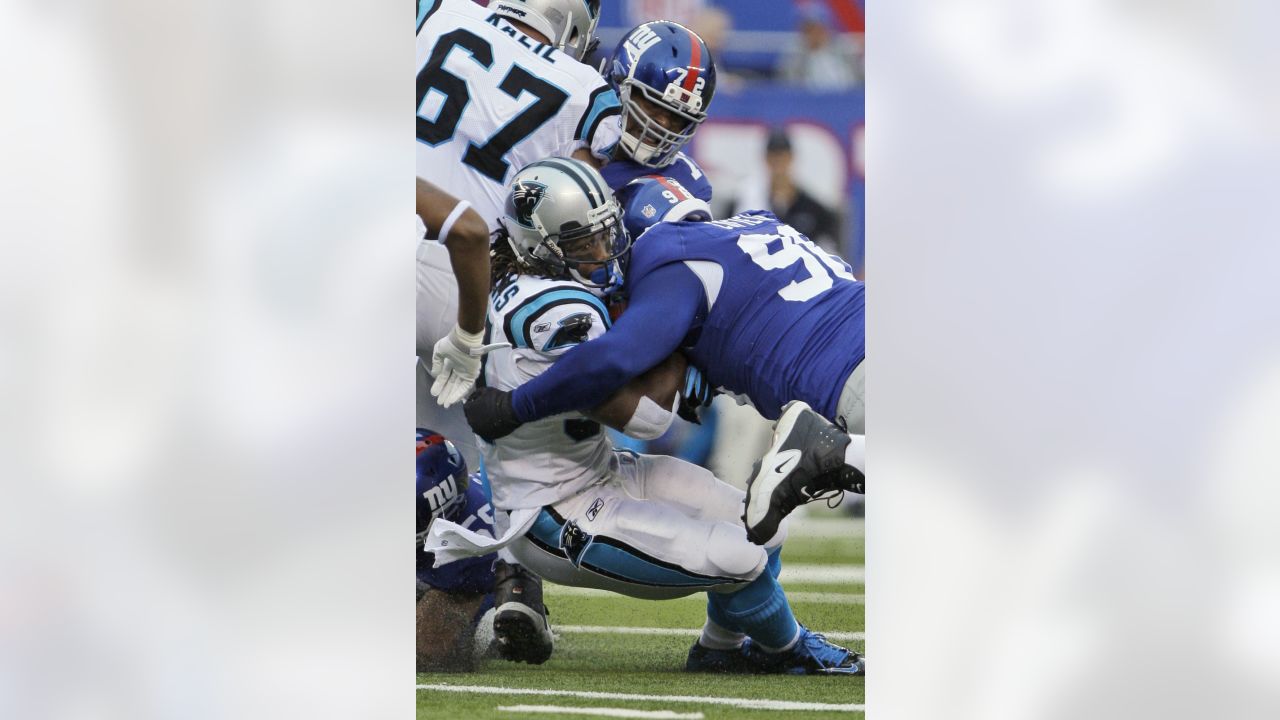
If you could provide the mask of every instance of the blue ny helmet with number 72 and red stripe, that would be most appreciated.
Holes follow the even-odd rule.
[[[716,63],[698,33],[655,20],[637,26],[618,42],[609,61],[609,82],[622,102],[622,149],[641,165],[663,168],[707,119],[716,94]],[[640,99],[666,109],[684,126],[664,128]]]

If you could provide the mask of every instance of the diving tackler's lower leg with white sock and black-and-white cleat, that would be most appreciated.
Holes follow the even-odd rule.
[[[800,505],[845,491],[865,492],[864,378],[860,364],[849,375],[836,413],[841,423],[858,433],[846,433],[800,401],[783,409],[773,429],[773,443],[748,480],[742,523],[751,542],[771,538],[778,523]]]

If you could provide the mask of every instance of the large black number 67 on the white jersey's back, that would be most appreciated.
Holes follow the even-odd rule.
[[[493,46],[489,45],[488,40],[463,28],[440,36],[431,50],[431,58],[417,73],[417,138],[431,146],[453,138],[458,122],[462,120],[462,113],[471,102],[471,91],[467,88],[466,81],[444,69],[444,60],[454,49],[468,54],[471,60],[485,70],[493,68]],[[433,90],[444,95],[444,105],[440,106],[440,111],[434,119],[422,117],[422,105]],[[507,170],[511,169],[503,156],[517,142],[529,137],[543,123],[553,118],[564,105],[568,94],[515,64],[498,83],[498,90],[516,100],[527,92],[536,97],[536,101],[498,128],[484,145],[470,143],[467,152],[462,156],[462,163],[475,168],[494,182],[503,182]]]

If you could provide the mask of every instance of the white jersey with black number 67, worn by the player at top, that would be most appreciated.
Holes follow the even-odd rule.
[[[498,228],[525,165],[621,136],[620,104],[593,68],[471,0],[436,0],[417,28],[417,174]]]

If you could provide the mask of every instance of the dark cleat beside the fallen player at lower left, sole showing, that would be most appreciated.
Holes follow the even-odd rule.
[[[494,647],[503,660],[541,665],[552,656],[556,639],[543,605],[543,579],[499,560],[494,566]]]

